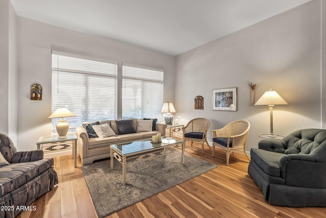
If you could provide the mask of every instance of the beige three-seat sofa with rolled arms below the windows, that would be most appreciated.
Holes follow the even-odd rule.
[[[110,145],[112,144],[132,142],[142,139],[150,139],[152,135],[156,135],[157,133],[161,133],[161,135],[166,135],[167,124],[156,123],[155,131],[137,132],[138,119],[130,120],[132,120],[133,128],[136,131],[135,133],[119,134],[119,129],[116,120],[99,121],[100,124],[107,123],[108,125],[110,125],[110,127],[116,134],[115,136],[106,138],[89,138],[89,134],[87,133],[84,127],[77,127],[77,145],[80,159],[82,160],[82,165],[88,165],[94,160],[110,157]]]

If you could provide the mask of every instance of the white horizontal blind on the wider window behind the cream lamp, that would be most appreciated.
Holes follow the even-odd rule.
[[[67,107],[76,117],[70,128],[85,121],[117,118],[117,64],[52,53],[52,113]],[[52,129],[56,129],[52,119]]]

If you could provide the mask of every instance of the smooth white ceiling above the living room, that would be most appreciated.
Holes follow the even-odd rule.
[[[11,0],[18,16],[179,55],[310,0]]]

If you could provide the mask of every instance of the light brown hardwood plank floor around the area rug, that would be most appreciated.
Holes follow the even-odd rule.
[[[186,152],[218,165],[214,170],[181,183],[151,198],[138,202],[107,217],[326,217],[326,208],[290,208],[266,203],[257,185],[247,173],[244,155],[230,156],[225,166],[225,152],[200,144],[186,144]],[[23,211],[25,217],[97,217],[83,178],[80,158],[77,168],[69,156],[55,158],[59,184],[37,199],[35,211]]]

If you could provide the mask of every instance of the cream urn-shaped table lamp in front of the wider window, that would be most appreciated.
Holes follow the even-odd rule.
[[[71,113],[67,108],[62,107],[58,108],[55,112],[53,112],[48,118],[62,118],[62,120],[58,120],[56,122],[56,128],[59,137],[66,137],[68,129],[69,129],[69,120],[64,120],[65,117],[75,117],[73,113]]]

